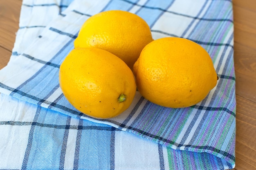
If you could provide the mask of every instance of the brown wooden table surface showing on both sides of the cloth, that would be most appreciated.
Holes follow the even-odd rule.
[[[22,0],[0,1],[0,69],[7,65],[18,31]],[[233,0],[236,71],[236,167],[256,170],[256,5]]]

